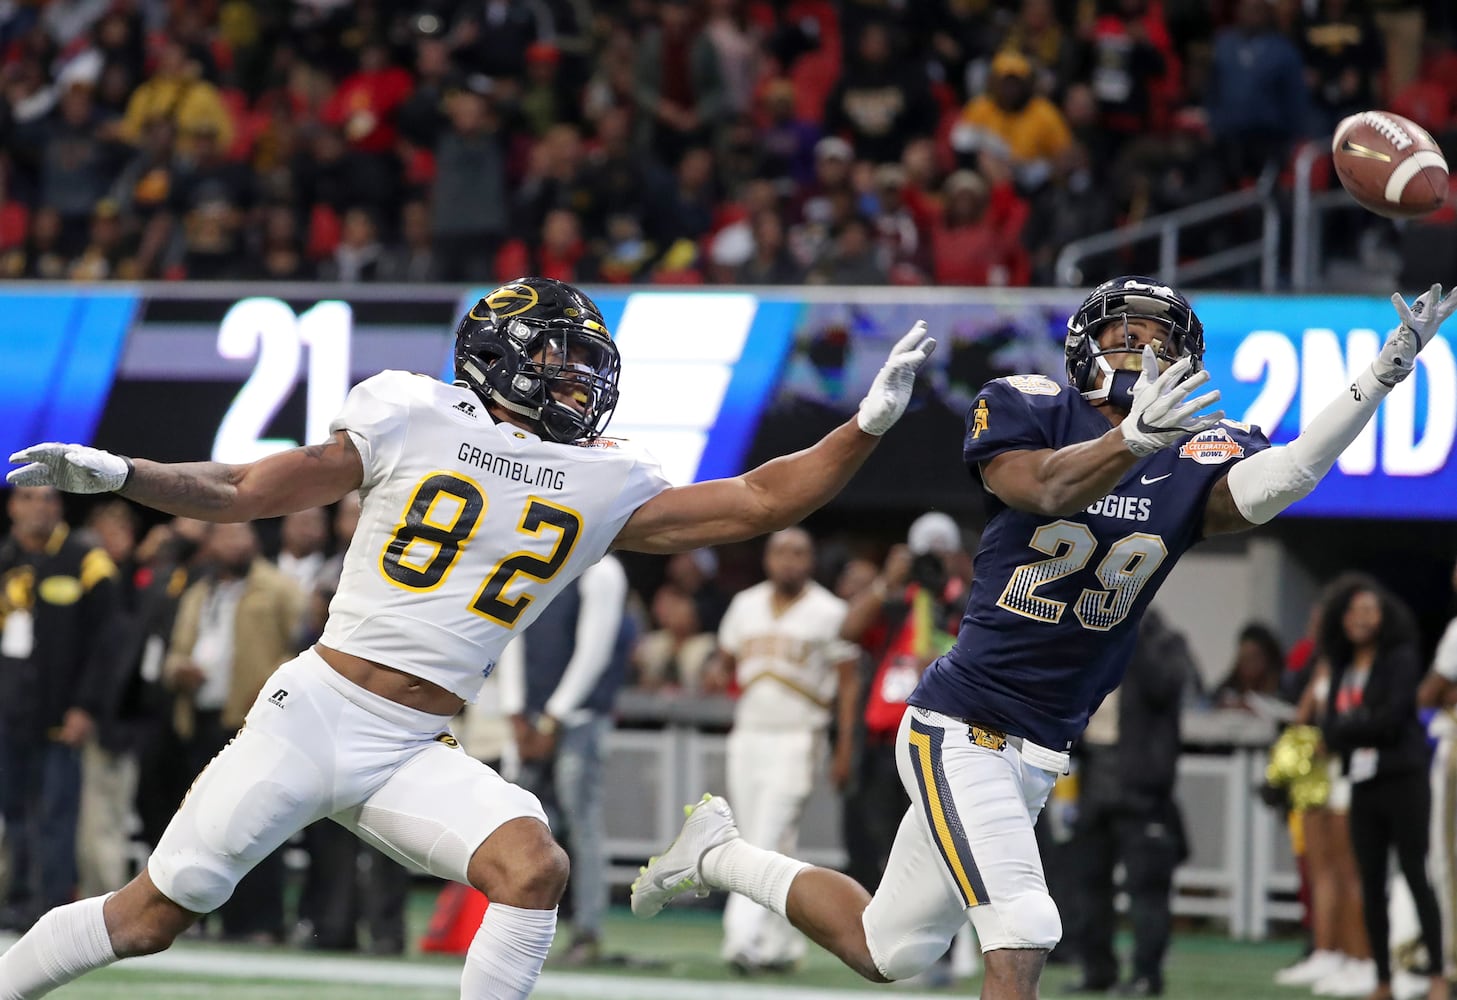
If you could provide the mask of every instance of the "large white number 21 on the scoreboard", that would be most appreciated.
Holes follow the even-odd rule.
[[[322,442],[329,436],[329,421],[344,408],[350,391],[353,321],[350,305],[337,299],[297,315],[287,302],[268,297],[240,299],[227,310],[217,328],[217,353],[229,360],[255,362],[217,426],[214,462],[255,462],[299,446],[288,437],[264,437],[264,431],[299,380],[305,348],[309,350],[305,440]]]

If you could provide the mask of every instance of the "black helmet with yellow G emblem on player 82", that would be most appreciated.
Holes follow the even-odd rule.
[[[549,440],[600,434],[618,405],[621,370],[596,303],[555,278],[507,281],[456,328],[456,385],[525,417]],[[577,405],[559,399],[562,392]]]

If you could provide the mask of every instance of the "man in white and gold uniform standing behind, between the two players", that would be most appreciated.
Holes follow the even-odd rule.
[[[715,687],[736,681],[726,748],[728,794],[746,841],[791,851],[800,816],[825,767],[826,733],[838,723],[830,781],[852,765],[860,698],[858,650],[839,637],[845,602],[812,579],[814,542],[785,528],[763,548],[763,583],[742,590],[718,627]],[[793,968],[804,939],[784,917],[747,897],[724,907],[721,958],[743,974]]]

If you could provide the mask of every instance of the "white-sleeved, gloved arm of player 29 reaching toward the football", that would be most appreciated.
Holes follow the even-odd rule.
[[[1263,525],[1310,496],[1340,452],[1375,415],[1381,399],[1412,373],[1416,354],[1437,337],[1442,321],[1457,310],[1457,293],[1442,297],[1442,286],[1434,284],[1410,306],[1399,294],[1391,296],[1391,305],[1402,325],[1387,337],[1371,367],[1316,414],[1289,445],[1252,455],[1214,484],[1203,517],[1206,536]]]

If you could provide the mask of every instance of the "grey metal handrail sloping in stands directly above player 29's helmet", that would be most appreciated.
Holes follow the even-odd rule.
[[[1259,239],[1205,257],[1180,259],[1179,238],[1185,229],[1250,208],[1259,208],[1262,214]],[[1155,277],[1163,281],[1187,284],[1212,274],[1224,274],[1259,262],[1260,290],[1273,292],[1279,281],[1279,204],[1275,198],[1275,172],[1268,169],[1254,187],[1244,191],[1221,194],[1199,204],[1144,219],[1132,226],[1120,226],[1106,233],[1075,239],[1058,254],[1056,281],[1062,287],[1085,284],[1081,265],[1087,258],[1123,249],[1147,239],[1158,241],[1158,273]]]

